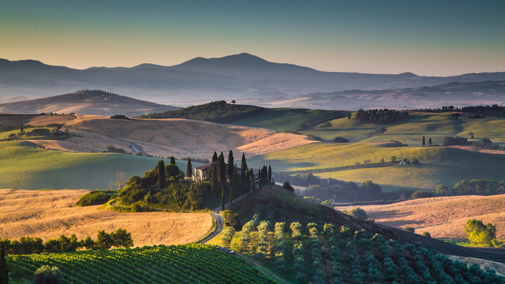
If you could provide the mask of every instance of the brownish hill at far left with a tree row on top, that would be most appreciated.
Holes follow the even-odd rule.
[[[7,113],[79,113],[81,115],[135,117],[178,107],[138,100],[105,91],[81,91],[59,96],[0,104]]]

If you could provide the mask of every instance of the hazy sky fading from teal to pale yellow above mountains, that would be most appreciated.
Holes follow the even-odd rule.
[[[0,0],[0,58],[84,69],[248,52],[322,71],[505,71],[505,1]]]

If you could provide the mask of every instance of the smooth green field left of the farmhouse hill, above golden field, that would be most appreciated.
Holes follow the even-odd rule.
[[[5,141],[0,142],[0,188],[106,189],[116,181],[117,172],[124,172],[126,179],[142,176],[158,160],[127,154],[68,153],[38,149],[30,142]],[[185,172],[187,162],[176,163]]]

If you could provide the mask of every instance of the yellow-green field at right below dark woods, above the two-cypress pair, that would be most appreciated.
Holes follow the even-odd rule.
[[[441,144],[445,136],[460,136],[475,142],[488,138],[494,145],[505,145],[505,119],[453,120],[450,119],[450,113],[411,112],[409,117],[399,119],[397,123],[384,125],[387,131],[383,135],[375,135],[378,125],[361,123],[354,118],[341,118],[330,122],[333,127],[327,130],[316,125],[302,133],[317,135],[329,141],[341,136],[349,142],[373,143],[393,140],[410,146],[422,146],[423,136],[426,137],[426,145],[429,138],[432,138],[434,145]],[[474,139],[470,139],[469,132],[474,133]]]

